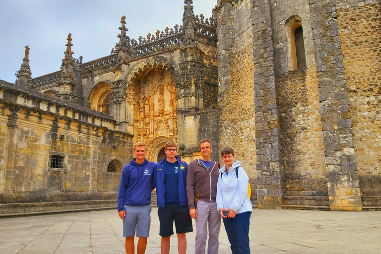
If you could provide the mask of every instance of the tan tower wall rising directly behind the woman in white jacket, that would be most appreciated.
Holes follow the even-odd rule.
[[[218,54],[225,58],[219,62],[219,148],[234,149],[236,159],[249,175],[252,196],[256,198],[252,4],[250,0],[222,4]]]

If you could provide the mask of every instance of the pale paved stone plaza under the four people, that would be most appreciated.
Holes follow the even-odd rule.
[[[147,254],[160,253],[157,208],[152,208]],[[194,222],[194,221],[193,221]],[[381,212],[254,209],[252,254],[380,254]],[[194,227],[194,224],[193,224]],[[188,253],[194,251],[188,234]],[[171,254],[177,253],[171,240]],[[229,254],[221,227],[219,254]],[[116,210],[0,219],[0,254],[123,254]]]

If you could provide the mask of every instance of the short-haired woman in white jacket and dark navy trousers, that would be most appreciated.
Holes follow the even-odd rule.
[[[249,225],[253,211],[248,195],[249,177],[230,147],[221,150],[225,165],[217,182],[217,209],[221,213],[233,254],[250,254]],[[238,173],[238,174],[237,174]]]

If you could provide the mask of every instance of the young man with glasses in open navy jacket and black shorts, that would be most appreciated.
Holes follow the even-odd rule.
[[[180,158],[176,156],[177,144],[175,142],[167,142],[164,152],[167,158],[156,163],[154,167],[161,254],[169,254],[174,220],[179,254],[186,254],[186,233],[193,231],[186,190],[188,164],[181,162]]]

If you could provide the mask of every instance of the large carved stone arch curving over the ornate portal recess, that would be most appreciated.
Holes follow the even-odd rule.
[[[132,78],[136,77],[140,71],[144,71],[145,69],[154,68],[156,66],[162,65],[163,68],[169,70],[172,74],[173,81],[175,82],[176,87],[181,86],[181,74],[179,66],[173,62],[168,57],[165,56],[156,56],[149,59],[145,59],[144,61],[138,61],[138,63],[134,64],[127,72],[125,76],[122,93],[127,94],[127,88],[130,85]]]

